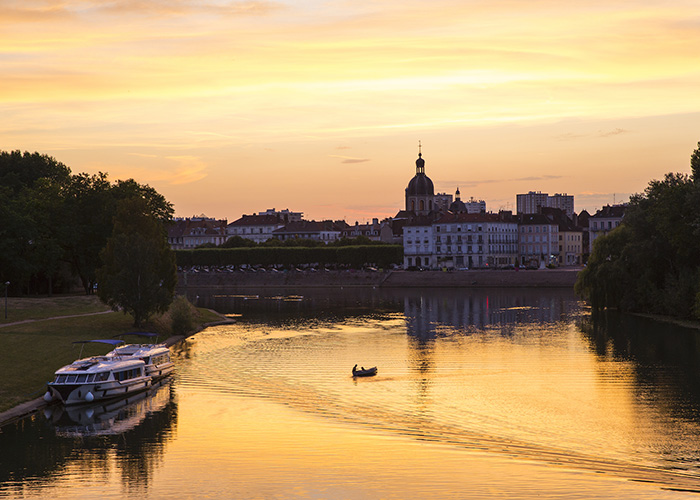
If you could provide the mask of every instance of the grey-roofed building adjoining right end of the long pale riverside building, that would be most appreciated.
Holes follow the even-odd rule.
[[[518,214],[520,265],[545,267],[559,263],[559,224],[544,214]]]

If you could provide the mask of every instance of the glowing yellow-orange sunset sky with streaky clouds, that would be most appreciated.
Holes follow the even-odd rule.
[[[698,0],[0,0],[0,150],[176,216],[365,222],[436,192],[594,212],[690,173]]]

